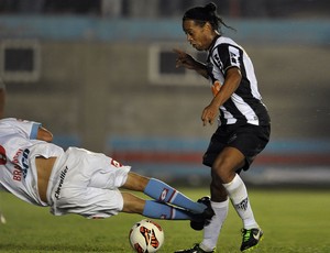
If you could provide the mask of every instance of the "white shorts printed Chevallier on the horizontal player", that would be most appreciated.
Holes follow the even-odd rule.
[[[54,216],[76,213],[86,218],[108,218],[123,208],[119,191],[130,166],[87,150],[69,147],[53,167],[47,200]]]

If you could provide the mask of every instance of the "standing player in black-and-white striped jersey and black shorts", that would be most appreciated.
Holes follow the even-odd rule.
[[[210,201],[216,216],[206,226],[191,222],[196,230],[204,228],[204,240],[191,249],[177,251],[182,253],[215,252],[229,199],[243,222],[241,251],[253,249],[263,237],[239,174],[249,169],[268,143],[271,119],[249,55],[233,40],[223,36],[221,25],[230,28],[218,16],[215,3],[187,10],[183,30],[193,47],[208,52],[207,62],[200,63],[175,50],[177,67],[196,70],[210,80],[213,98],[201,113],[204,125],[212,124],[220,112],[218,129],[204,155],[204,164],[211,167],[211,198],[200,200]]]

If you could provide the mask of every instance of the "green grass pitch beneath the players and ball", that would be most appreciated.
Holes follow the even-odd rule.
[[[208,189],[179,188],[198,199]],[[251,189],[254,215],[262,226],[264,240],[255,252],[330,252],[330,190]],[[0,252],[132,252],[128,234],[138,215],[120,213],[105,220],[79,216],[54,217],[48,208],[34,207],[10,194],[0,193],[0,207],[7,224],[0,224]],[[202,232],[193,231],[188,221],[158,223],[165,231],[161,252],[169,253],[200,242]],[[218,251],[240,252],[241,221],[233,208],[218,241]]]

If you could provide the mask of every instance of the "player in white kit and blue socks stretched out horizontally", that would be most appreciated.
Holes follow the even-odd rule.
[[[0,186],[55,216],[76,213],[90,219],[119,212],[154,219],[207,222],[210,206],[195,202],[155,178],[130,172],[101,153],[51,143],[41,123],[13,118],[0,120]],[[142,191],[144,200],[119,188]]]

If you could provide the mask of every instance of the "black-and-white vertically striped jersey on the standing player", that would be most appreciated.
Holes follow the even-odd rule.
[[[213,95],[223,85],[226,72],[238,67],[242,80],[235,92],[220,107],[219,124],[270,124],[270,116],[257,89],[253,64],[246,52],[229,37],[218,36],[211,45],[207,68]]]

